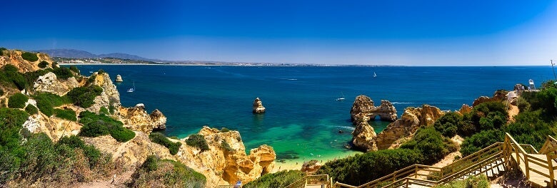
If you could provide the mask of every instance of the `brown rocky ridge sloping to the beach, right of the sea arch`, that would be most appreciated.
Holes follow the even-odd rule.
[[[406,108],[401,117],[391,122],[378,135],[367,122],[358,122],[356,130],[352,132],[352,144],[361,150],[385,150],[396,144],[396,141],[410,137],[421,126],[433,125],[444,112],[439,108],[422,105],[421,108]]]

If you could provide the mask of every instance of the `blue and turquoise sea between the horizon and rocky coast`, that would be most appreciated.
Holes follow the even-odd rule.
[[[512,90],[532,78],[553,78],[551,66],[523,67],[241,67],[241,66],[78,66],[82,73],[103,69],[116,78],[121,103],[158,108],[168,122],[164,133],[186,137],[203,125],[239,130],[251,149],[271,145],[278,158],[351,153],[350,109],[357,95],[378,104],[390,100],[400,116],[408,106],[458,110],[481,95]],[[377,74],[373,78],[373,72]],[[135,82],[136,92],[126,93]],[[336,101],[344,95],[346,100]],[[253,115],[261,98],[267,112]],[[372,122],[376,132],[388,122]],[[339,133],[343,130],[344,133]]]

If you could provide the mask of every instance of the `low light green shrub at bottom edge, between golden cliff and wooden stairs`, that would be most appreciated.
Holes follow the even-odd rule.
[[[296,180],[306,176],[306,173],[300,170],[283,170],[272,174],[264,174],[252,182],[245,184],[243,187],[286,187]]]

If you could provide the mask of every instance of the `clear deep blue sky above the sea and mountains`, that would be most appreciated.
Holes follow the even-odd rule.
[[[6,1],[0,46],[164,60],[549,65],[555,1]]]

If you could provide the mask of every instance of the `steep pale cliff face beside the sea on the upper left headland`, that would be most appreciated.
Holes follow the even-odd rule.
[[[91,112],[94,113],[99,113],[99,110],[101,110],[101,108],[106,108],[106,109],[110,109],[110,107],[112,106],[113,108],[118,109],[121,105],[120,103],[120,93],[118,93],[118,90],[116,90],[116,85],[114,85],[112,83],[112,80],[110,79],[110,75],[109,73],[93,73],[94,85],[99,85],[101,88],[103,88],[103,92],[101,93],[101,95],[96,96],[94,99],[94,105],[91,105],[91,107],[87,108],[86,110],[89,110]]]

